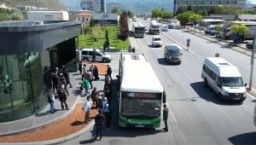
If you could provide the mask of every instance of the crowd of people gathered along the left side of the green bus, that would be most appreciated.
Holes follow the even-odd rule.
[[[79,70],[80,71],[80,70]],[[85,96],[86,100],[84,101],[84,123],[89,123],[90,121],[90,109],[97,109],[98,114],[96,115],[96,138],[100,133],[100,139],[102,139],[102,128],[106,126],[106,131],[109,131],[111,126],[111,82],[112,82],[112,68],[108,65],[105,75],[105,84],[103,87],[102,95],[93,86],[93,81],[100,80],[98,77],[98,70],[96,65],[90,65],[89,69],[86,67],[86,64],[83,64],[82,67],[82,83],[80,86],[81,96]],[[92,89],[90,91],[90,89]],[[90,100],[92,104],[90,104]]]

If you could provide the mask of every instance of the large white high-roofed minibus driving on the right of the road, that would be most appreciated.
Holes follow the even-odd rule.
[[[238,68],[220,57],[207,57],[202,67],[201,78],[217,94],[218,99],[243,102],[247,97]]]

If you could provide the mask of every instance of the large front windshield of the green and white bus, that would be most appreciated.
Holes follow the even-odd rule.
[[[160,116],[160,93],[123,92],[121,113],[135,119],[152,119]]]

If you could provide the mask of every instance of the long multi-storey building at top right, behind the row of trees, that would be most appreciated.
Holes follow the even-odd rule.
[[[246,8],[246,0],[174,0],[174,12],[177,12],[179,8],[193,7],[206,7],[211,8],[212,6],[230,6],[236,5],[240,9]]]

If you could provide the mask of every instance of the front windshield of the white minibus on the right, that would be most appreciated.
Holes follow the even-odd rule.
[[[243,82],[241,77],[222,77],[221,83],[223,86],[229,87],[241,87],[243,86]]]

